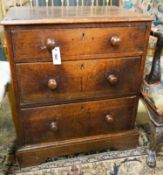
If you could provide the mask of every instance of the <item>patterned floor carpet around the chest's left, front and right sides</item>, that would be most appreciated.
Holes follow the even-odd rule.
[[[162,175],[163,151],[158,154],[156,168],[149,168],[146,165],[148,125],[143,123],[138,130],[140,146],[135,149],[69,155],[19,169],[14,156],[15,131],[8,99],[5,98],[0,109],[0,175]]]

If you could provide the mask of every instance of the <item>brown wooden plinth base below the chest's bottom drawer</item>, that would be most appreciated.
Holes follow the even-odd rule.
[[[100,150],[125,150],[138,145],[138,132],[128,130],[125,132],[105,134],[99,136],[83,137],[60,142],[27,145],[17,151],[20,167],[39,165],[51,157],[69,155],[74,153],[88,153]]]

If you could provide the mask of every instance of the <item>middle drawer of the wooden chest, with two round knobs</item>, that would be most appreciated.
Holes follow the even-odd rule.
[[[135,94],[140,62],[141,58],[119,58],[18,64],[21,105]]]

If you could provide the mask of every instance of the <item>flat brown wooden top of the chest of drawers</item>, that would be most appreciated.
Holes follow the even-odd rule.
[[[9,9],[2,25],[106,23],[152,21],[147,14],[119,7],[17,7]]]

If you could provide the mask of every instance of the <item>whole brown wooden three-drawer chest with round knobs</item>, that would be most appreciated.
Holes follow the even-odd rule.
[[[17,8],[1,23],[22,167],[138,144],[134,123],[151,18],[116,7]],[[52,61],[54,48],[60,65]]]

